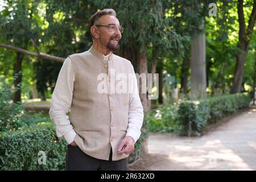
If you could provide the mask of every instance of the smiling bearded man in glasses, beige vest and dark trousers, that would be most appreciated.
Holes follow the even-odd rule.
[[[90,32],[93,46],[64,61],[49,115],[68,142],[67,170],[126,170],[143,122],[137,79],[130,61],[113,53],[123,32],[115,11],[92,15]],[[116,92],[117,75],[127,78],[122,87],[129,91]]]

